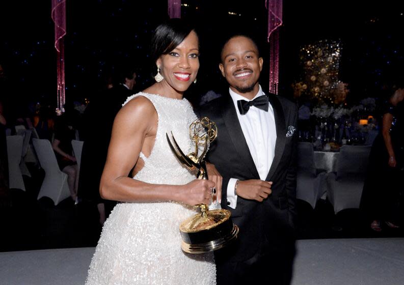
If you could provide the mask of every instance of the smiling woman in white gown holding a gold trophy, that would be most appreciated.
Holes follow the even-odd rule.
[[[188,127],[196,116],[182,95],[199,69],[197,34],[171,19],[157,27],[152,52],[157,82],[129,97],[115,118],[100,193],[127,203],[104,223],[88,285],[216,283],[213,254],[182,252],[178,229],[197,212],[192,205],[209,203],[215,183],[195,180],[166,138],[172,131],[181,149],[191,152]]]

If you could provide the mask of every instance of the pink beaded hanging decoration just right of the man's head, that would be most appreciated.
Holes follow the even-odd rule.
[[[279,30],[282,25],[282,0],[265,0],[268,9],[268,43],[270,43],[270,92],[278,94]]]

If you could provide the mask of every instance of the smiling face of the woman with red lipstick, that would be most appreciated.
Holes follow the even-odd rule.
[[[157,60],[160,74],[164,77],[161,82],[168,83],[179,93],[187,90],[198,73],[198,56],[198,36],[192,31],[176,48]]]

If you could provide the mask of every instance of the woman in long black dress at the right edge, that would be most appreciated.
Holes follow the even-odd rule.
[[[403,86],[404,87],[404,86]],[[404,99],[403,87],[393,86],[384,108],[382,129],[374,139],[368,175],[363,187],[361,209],[373,231],[382,231],[381,221],[399,227],[399,170],[403,164],[403,119],[397,105]]]

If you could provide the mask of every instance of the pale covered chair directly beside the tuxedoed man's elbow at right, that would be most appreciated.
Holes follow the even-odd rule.
[[[314,209],[317,201],[327,192],[326,173],[317,174],[311,143],[298,143],[298,172],[296,197],[308,202]]]

